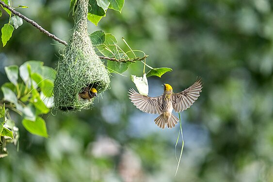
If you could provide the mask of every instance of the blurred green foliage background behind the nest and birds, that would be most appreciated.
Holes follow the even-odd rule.
[[[13,0],[13,6],[57,37],[68,40],[69,0]],[[8,22],[3,12],[2,27]],[[44,115],[49,138],[20,131],[19,151],[9,144],[0,159],[0,182],[273,182],[273,3],[271,0],[126,0],[122,14],[108,10],[89,32],[112,33],[123,49],[145,51],[153,67],[171,67],[149,77],[149,95],[162,83],[179,92],[196,77],[203,92],[182,112],[184,151],[178,174],[179,126],[160,129],[156,115],[142,113],[127,96],[141,76],[136,63],[113,75],[111,90],[91,110]],[[1,45],[2,46],[2,45]],[[64,48],[24,21],[0,48],[4,66],[28,60],[56,67]],[[178,142],[181,148],[181,141]],[[178,151],[179,152],[179,151]]]

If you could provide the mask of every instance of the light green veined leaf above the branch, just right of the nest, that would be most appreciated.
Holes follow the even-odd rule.
[[[96,48],[106,57],[114,57],[117,53],[116,49],[117,40],[111,33],[105,34],[104,44],[97,46]]]

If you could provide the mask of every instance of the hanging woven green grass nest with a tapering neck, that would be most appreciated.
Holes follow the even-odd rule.
[[[86,87],[101,93],[110,88],[110,75],[96,55],[87,32],[88,0],[78,0],[73,34],[60,56],[54,82],[54,107],[69,111],[89,109],[94,99],[82,99]]]

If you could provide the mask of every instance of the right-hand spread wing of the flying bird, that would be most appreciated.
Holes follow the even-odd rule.
[[[202,81],[199,79],[184,91],[173,94],[172,97],[174,110],[178,113],[193,105],[193,102],[200,96],[202,88]]]

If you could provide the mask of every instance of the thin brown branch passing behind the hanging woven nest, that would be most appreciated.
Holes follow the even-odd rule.
[[[54,34],[49,33],[47,30],[45,30],[43,27],[41,27],[38,23],[36,23],[35,21],[33,21],[32,19],[20,14],[19,12],[15,11],[14,8],[10,7],[9,5],[6,5],[2,0],[0,0],[0,4],[4,7],[7,8],[8,10],[10,10],[14,15],[24,19],[26,22],[32,24],[34,27],[36,27],[40,32],[42,33],[46,33],[46,35],[48,35],[48,37],[53,38],[54,40],[60,42],[61,44],[64,44],[65,46],[67,45],[67,42],[65,42],[64,40],[56,37]],[[127,63],[127,62],[131,62],[131,63],[135,63],[135,61],[142,61],[145,60],[146,57],[148,57],[148,55],[145,55],[144,57],[137,57],[135,59],[116,59],[116,58],[110,58],[110,57],[105,57],[105,56],[98,56],[100,59],[106,59],[106,60],[110,60],[110,61],[115,61],[118,63]]]

